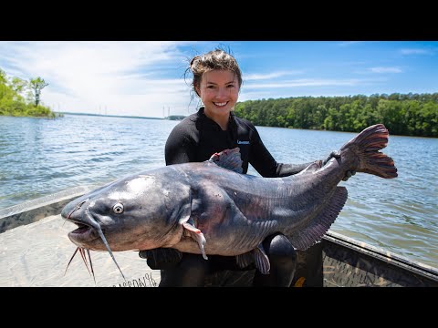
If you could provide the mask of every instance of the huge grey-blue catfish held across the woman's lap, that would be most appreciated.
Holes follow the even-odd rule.
[[[262,241],[276,232],[297,250],[320,241],[347,200],[338,187],[347,171],[397,177],[379,151],[388,136],[382,124],[365,128],[326,165],[318,160],[286,178],[242,174],[239,149],[225,149],[204,162],[118,179],[71,201],[61,215],[78,225],[68,237],[83,257],[84,250],[110,251],[115,261],[112,251],[171,247],[205,259],[238,255],[240,265],[255,261],[267,273]]]

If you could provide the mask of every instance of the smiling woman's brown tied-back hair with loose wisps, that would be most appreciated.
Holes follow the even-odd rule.
[[[237,77],[240,89],[242,86],[242,72],[235,57],[222,49],[216,48],[202,56],[194,56],[190,61],[190,66],[187,68],[187,70],[193,73],[192,86],[196,95],[198,95],[196,88],[201,86],[203,73],[210,72],[214,69],[224,69],[233,72],[235,77]]]

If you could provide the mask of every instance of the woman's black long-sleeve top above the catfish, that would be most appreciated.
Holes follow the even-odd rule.
[[[240,149],[243,173],[248,163],[265,178],[287,177],[305,169],[310,163],[277,163],[262,142],[255,126],[244,118],[230,113],[228,127],[223,130],[200,108],[184,118],[173,129],[165,146],[166,165],[201,162],[224,149]]]

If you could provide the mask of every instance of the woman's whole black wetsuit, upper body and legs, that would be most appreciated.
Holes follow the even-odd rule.
[[[215,152],[220,152],[224,149],[234,149],[235,147],[238,147],[241,152],[243,172],[247,172],[249,163],[265,178],[293,175],[305,169],[308,164],[310,164],[293,165],[277,163],[266,149],[256,128],[251,122],[243,118],[237,118],[231,113],[228,128],[223,130],[214,120],[207,118],[203,113],[203,108],[200,108],[197,113],[184,118],[182,122],[172,129],[165,146],[166,165],[202,162],[210,159]],[[283,239],[281,239],[281,237],[283,237]],[[276,243],[272,242],[274,239],[276,239]],[[284,253],[287,257],[289,257],[290,254],[294,256],[294,250],[291,245],[289,246],[286,237],[282,235],[270,236],[266,238],[266,240],[267,241],[264,241],[264,247],[266,247],[266,249],[269,249],[269,247],[271,250],[277,248],[280,250],[280,253]],[[160,256],[157,255],[159,254],[159,250],[169,251],[168,249],[158,249],[147,252],[149,254],[148,263],[153,261],[155,264],[154,269],[166,268],[162,270],[161,285],[192,285],[191,280],[196,281],[197,279],[193,278],[193,275],[195,275],[197,271],[194,270],[189,273],[188,270],[193,270],[194,266],[200,265],[208,265],[207,269],[201,268],[202,270],[200,270],[200,280],[203,279],[203,272],[206,273],[204,284],[202,285],[251,285],[253,278],[254,280],[260,280],[260,284],[262,285],[264,283],[262,281],[265,278],[255,272],[254,264],[245,269],[241,269],[237,266],[234,256],[209,255],[209,260],[203,261],[202,255],[183,253],[184,263],[181,264],[179,268],[172,268],[172,266],[169,268],[169,266],[160,267],[160,259],[156,258]],[[162,254],[165,254],[165,252],[162,252]],[[208,262],[208,264],[201,264],[202,262]],[[280,262],[282,262],[281,259]],[[184,265],[184,267],[181,267],[182,265]],[[271,265],[271,268],[274,270],[275,266]],[[291,270],[294,271],[295,269],[285,269],[286,272],[290,272]],[[182,278],[185,273],[187,274],[187,283],[183,281],[185,278]],[[257,274],[259,275],[258,278]],[[275,284],[277,280],[278,279],[276,279],[275,282],[267,283],[268,285],[272,285],[272,283]]]

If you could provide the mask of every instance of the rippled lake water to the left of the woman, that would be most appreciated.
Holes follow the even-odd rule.
[[[0,117],[0,209],[164,165],[175,121]]]

